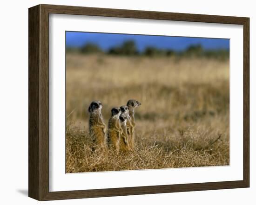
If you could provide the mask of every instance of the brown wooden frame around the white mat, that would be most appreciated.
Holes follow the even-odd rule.
[[[28,13],[29,197],[41,201],[249,187],[249,18],[42,4]],[[243,25],[243,180],[49,192],[49,13]]]

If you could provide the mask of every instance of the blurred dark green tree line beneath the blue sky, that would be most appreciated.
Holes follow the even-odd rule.
[[[123,42],[122,45],[114,46],[103,51],[100,46],[94,43],[87,43],[81,47],[67,47],[67,52],[79,52],[84,54],[91,53],[105,53],[109,55],[123,55],[123,56],[148,56],[148,57],[205,57],[205,58],[218,58],[228,59],[229,50],[224,49],[212,49],[204,50],[202,45],[190,45],[184,51],[174,51],[171,49],[159,49],[154,46],[148,46],[144,51],[138,51],[136,44],[133,40]]]

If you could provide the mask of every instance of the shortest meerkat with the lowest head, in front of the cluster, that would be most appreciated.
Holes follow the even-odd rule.
[[[127,117],[125,115],[121,114],[119,119],[120,119],[121,128],[122,128],[122,134],[121,134],[120,141],[119,141],[119,150],[123,151],[123,152],[127,152],[130,150],[130,147],[128,144],[129,136],[128,136],[127,127],[126,127]]]

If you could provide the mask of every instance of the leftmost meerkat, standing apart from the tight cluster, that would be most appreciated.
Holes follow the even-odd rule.
[[[92,141],[96,146],[105,147],[106,146],[106,125],[103,121],[101,115],[102,104],[100,101],[91,102],[88,112],[90,113],[89,117],[89,134],[92,138]],[[93,147],[94,150],[94,147]]]

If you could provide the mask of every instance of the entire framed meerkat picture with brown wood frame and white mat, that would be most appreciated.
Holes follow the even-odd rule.
[[[249,18],[29,8],[29,197],[249,187]]]

